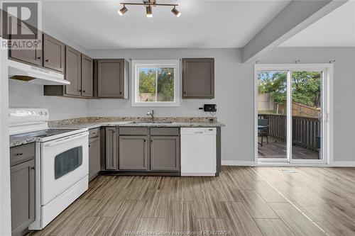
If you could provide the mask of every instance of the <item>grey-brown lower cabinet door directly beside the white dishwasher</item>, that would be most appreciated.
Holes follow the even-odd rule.
[[[179,137],[151,137],[151,170],[178,171],[180,169]]]

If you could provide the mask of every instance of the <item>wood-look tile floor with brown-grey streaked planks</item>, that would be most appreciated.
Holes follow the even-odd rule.
[[[255,170],[223,167],[218,177],[98,176],[31,235],[326,235],[320,227],[329,235],[355,234],[354,169]]]

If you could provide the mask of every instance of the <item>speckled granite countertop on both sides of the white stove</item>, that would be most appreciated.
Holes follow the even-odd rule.
[[[132,123],[136,121],[138,123]],[[74,118],[68,120],[55,120],[48,123],[50,128],[99,128],[102,126],[124,127],[223,127],[224,124],[217,121],[209,121],[208,118],[158,118],[158,121],[171,121],[171,123],[142,123],[146,118]],[[33,134],[10,136],[10,147],[26,145],[38,140]]]

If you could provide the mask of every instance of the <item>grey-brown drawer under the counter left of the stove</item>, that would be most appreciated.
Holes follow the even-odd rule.
[[[10,165],[20,164],[35,158],[35,142],[10,148]]]

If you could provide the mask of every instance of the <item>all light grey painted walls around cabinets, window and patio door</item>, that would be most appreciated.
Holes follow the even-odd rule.
[[[154,108],[158,116],[208,116],[198,110],[204,103],[217,103],[217,118],[222,128],[222,159],[253,162],[253,64],[241,63],[239,49],[171,49],[171,50],[91,50],[94,58],[127,60],[180,59],[182,57],[215,58],[215,98],[182,100],[180,107]],[[334,62],[334,160],[355,161],[355,48],[277,48],[260,59],[260,63]],[[146,116],[149,108],[131,107],[128,100],[82,100],[43,96],[41,86],[10,80],[10,106],[48,107],[51,120],[80,116]]]

